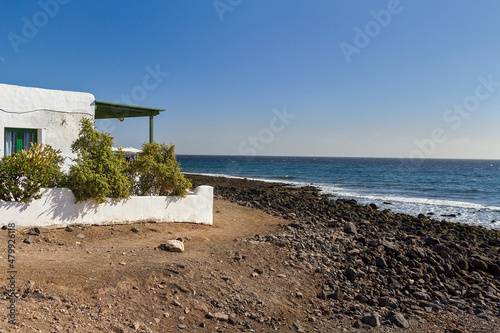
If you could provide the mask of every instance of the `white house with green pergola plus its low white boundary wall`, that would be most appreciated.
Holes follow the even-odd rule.
[[[80,132],[80,120],[149,117],[151,109],[96,101],[92,94],[0,84],[0,158],[29,148],[31,142],[49,144],[65,157],[74,157],[71,144]],[[133,135],[133,133],[131,133]],[[139,221],[213,223],[213,188],[198,187],[180,197],[131,197],[119,203],[75,203],[69,189],[42,189],[42,198],[30,203],[0,201],[2,224],[19,227],[70,224],[130,223]]]

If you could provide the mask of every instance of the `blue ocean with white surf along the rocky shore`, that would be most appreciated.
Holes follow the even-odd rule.
[[[500,160],[201,155],[177,160],[187,174],[312,184],[333,199],[500,230]]]

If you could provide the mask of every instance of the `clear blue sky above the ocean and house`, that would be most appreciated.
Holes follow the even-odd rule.
[[[500,159],[499,1],[2,5],[0,82],[166,109],[178,154]]]

